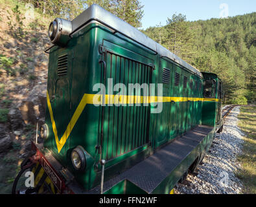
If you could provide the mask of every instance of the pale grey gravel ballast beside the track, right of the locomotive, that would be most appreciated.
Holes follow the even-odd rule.
[[[175,188],[177,194],[237,194],[242,191],[242,182],[235,177],[241,168],[237,156],[242,152],[242,136],[238,125],[240,107],[235,107],[227,116],[223,131],[213,140],[211,149],[198,166],[198,175],[188,175],[183,184]]]

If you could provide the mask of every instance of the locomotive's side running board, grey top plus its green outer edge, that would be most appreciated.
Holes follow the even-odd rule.
[[[211,145],[214,135],[213,127],[198,125],[146,160],[104,182],[104,192],[108,193],[121,182],[128,180],[145,193],[169,193],[200,153],[207,151],[206,147]],[[75,193],[99,192],[97,186],[87,192]]]

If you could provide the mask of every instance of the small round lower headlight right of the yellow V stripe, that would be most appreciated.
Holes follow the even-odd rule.
[[[76,170],[83,171],[86,168],[86,157],[84,155],[84,148],[78,146],[73,149],[71,153],[71,160],[73,167]]]

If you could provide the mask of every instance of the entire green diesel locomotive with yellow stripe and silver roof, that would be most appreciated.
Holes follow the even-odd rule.
[[[13,193],[170,193],[222,130],[220,78],[98,5],[56,18],[49,38],[43,143]]]

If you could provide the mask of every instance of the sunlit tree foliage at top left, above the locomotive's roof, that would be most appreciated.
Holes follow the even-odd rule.
[[[86,8],[97,4],[127,21],[134,27],[141,27],[143,17],[143,6],[139,0],[22,0],[23,3],[32,3],[42,14],[54,17],[63,17],[72,20]],[[36,22],[29,25],[32,30],[36,30]]]

